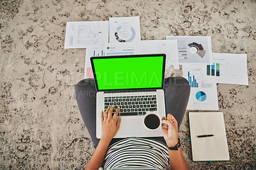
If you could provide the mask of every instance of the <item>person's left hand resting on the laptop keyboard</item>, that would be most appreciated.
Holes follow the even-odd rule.
[[[122,116],[118,116],[120,107],[115,111],[114,116],[112,117],[114,106],[111,108],[108,107],[106,112],[101,111],[101,139],[110,143],[111,139],[116,135],[120,127],[120,121]],[[117,119],[117,121],[116,121]]]

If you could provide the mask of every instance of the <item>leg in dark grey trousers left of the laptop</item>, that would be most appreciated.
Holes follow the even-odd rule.
[[[100,139],[96,137],[96,89],[93,79],[84,79],[76,84],[76,101],[84,124],[96,148]]]

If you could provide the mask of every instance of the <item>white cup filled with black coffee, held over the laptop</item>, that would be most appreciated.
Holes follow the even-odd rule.
[[[144,116],[143,124],[148,130],[156,130],[160,127],[160,118],[155,113],[148,113]]]

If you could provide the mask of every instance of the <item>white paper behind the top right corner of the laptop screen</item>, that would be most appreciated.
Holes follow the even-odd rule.
[[[138,54],[166,54],[165,68],[179,69],[177,40],[143,40],[138,50]]]

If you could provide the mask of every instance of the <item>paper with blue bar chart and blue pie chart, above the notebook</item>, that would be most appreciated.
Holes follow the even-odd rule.
[[[215,79],[204,74],[205,65],[182,65],[182,77],[190,84],[188,110],[218,111],[218,95]]]

